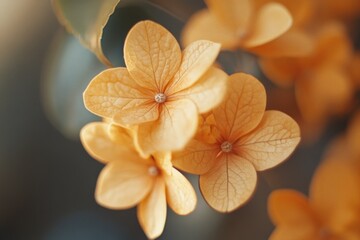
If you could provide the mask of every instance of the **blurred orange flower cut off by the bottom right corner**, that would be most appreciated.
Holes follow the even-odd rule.
[[[313,177],[309,199],[294,190],[277,190],[268,208],[276,225],[270,240],[360,239],[359,172],[346,159],[328,158]]]

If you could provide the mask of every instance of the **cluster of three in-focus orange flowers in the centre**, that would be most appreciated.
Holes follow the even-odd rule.
[[[149,238],[163,231],[166,203],[182,215],[196,205],[173,164],[201,175],[205,200],[230,212],[254,192],[256,170],[281,163],[300,141],[293,119],[265,111],[257,79],[213,66],[219,51],[198,40],[181,52],[170,32],[142,21],[127,35],[126,68],[103,71],[84,92],[85,106],[106,119],[81,131],[85,149],[106,164],[96,200],[111,209],[138,205]]]

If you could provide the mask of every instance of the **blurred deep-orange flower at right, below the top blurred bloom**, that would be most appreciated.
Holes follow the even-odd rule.
[[[351,43],[340,24],[328,24],[314,37],[315,51],[304,58],[262,59],[264,73],[282,86],[295,85],[299,110],[306,122],[324,125],[351,103],[353,86],[346,73]]]

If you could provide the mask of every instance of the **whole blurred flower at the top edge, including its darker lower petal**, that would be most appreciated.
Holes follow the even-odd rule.
[[[308,18],[311,1],[207,0],[208,9],[190,18],[182,39],[184,45],[194,40],[219,42],[224,50],[245,49],[260,56],[298,56],[311,51],[308,37],[293,28]],[[284,5],[285,6],[284,6]],[[311,6],[310,6],[311,5]],[[289,6],[291,13],[285,8]],[[208,28],[207,26],[211,26]]]

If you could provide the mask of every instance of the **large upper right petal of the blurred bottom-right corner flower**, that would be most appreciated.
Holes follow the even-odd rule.
[[[316,170],[310,186],[311,204],[334,231],[358,219],[360,209],[360,175],[346,160],[330,156]]]

